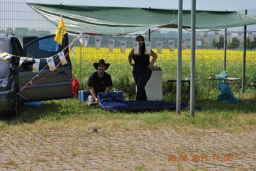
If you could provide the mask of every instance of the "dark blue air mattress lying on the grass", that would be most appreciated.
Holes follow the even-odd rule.
[[[98,93],[99,105],[102,109],[116,111],[148,111],[148,110],[176,110],[176,102],[164,101],[145,101],[145,100],[117,100],[107,93]],[[188,103],[181,103],[181,109],[190,109]],[[201,110],[200,106],[195,105],[195,110]]]

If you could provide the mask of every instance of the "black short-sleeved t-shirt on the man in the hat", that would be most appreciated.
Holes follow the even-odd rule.
[[[96,71],[89,77],[87,85],[93,87],[96,96],[98,96],[99,92],[104,92],[106,87],[113,86],[113,83],[108,73],[104,72],[103,77],[99,77],[98,71]],[[88,91],[88,95],[91,95],[90,91]]]

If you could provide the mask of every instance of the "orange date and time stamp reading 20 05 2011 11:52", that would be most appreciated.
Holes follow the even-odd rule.
[[[168,156],[168,161],[175,161],[175,160],[180,160],[180,161],[232,161],[231,160],[232,156],[231,155],[213,155],[213,156],[207,156],[207,155],[169,155]]]

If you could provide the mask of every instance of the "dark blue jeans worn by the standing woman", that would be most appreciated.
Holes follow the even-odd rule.
[[[137,86],[136,100],[148,100],[145,86],[151,77],[151,74],[152,70],[133,68],[132,75]]]

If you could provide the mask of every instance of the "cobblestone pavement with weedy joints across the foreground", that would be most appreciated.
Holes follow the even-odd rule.
[[[256,170],[255,137],[189,129],[1,132],[0,170]]]

